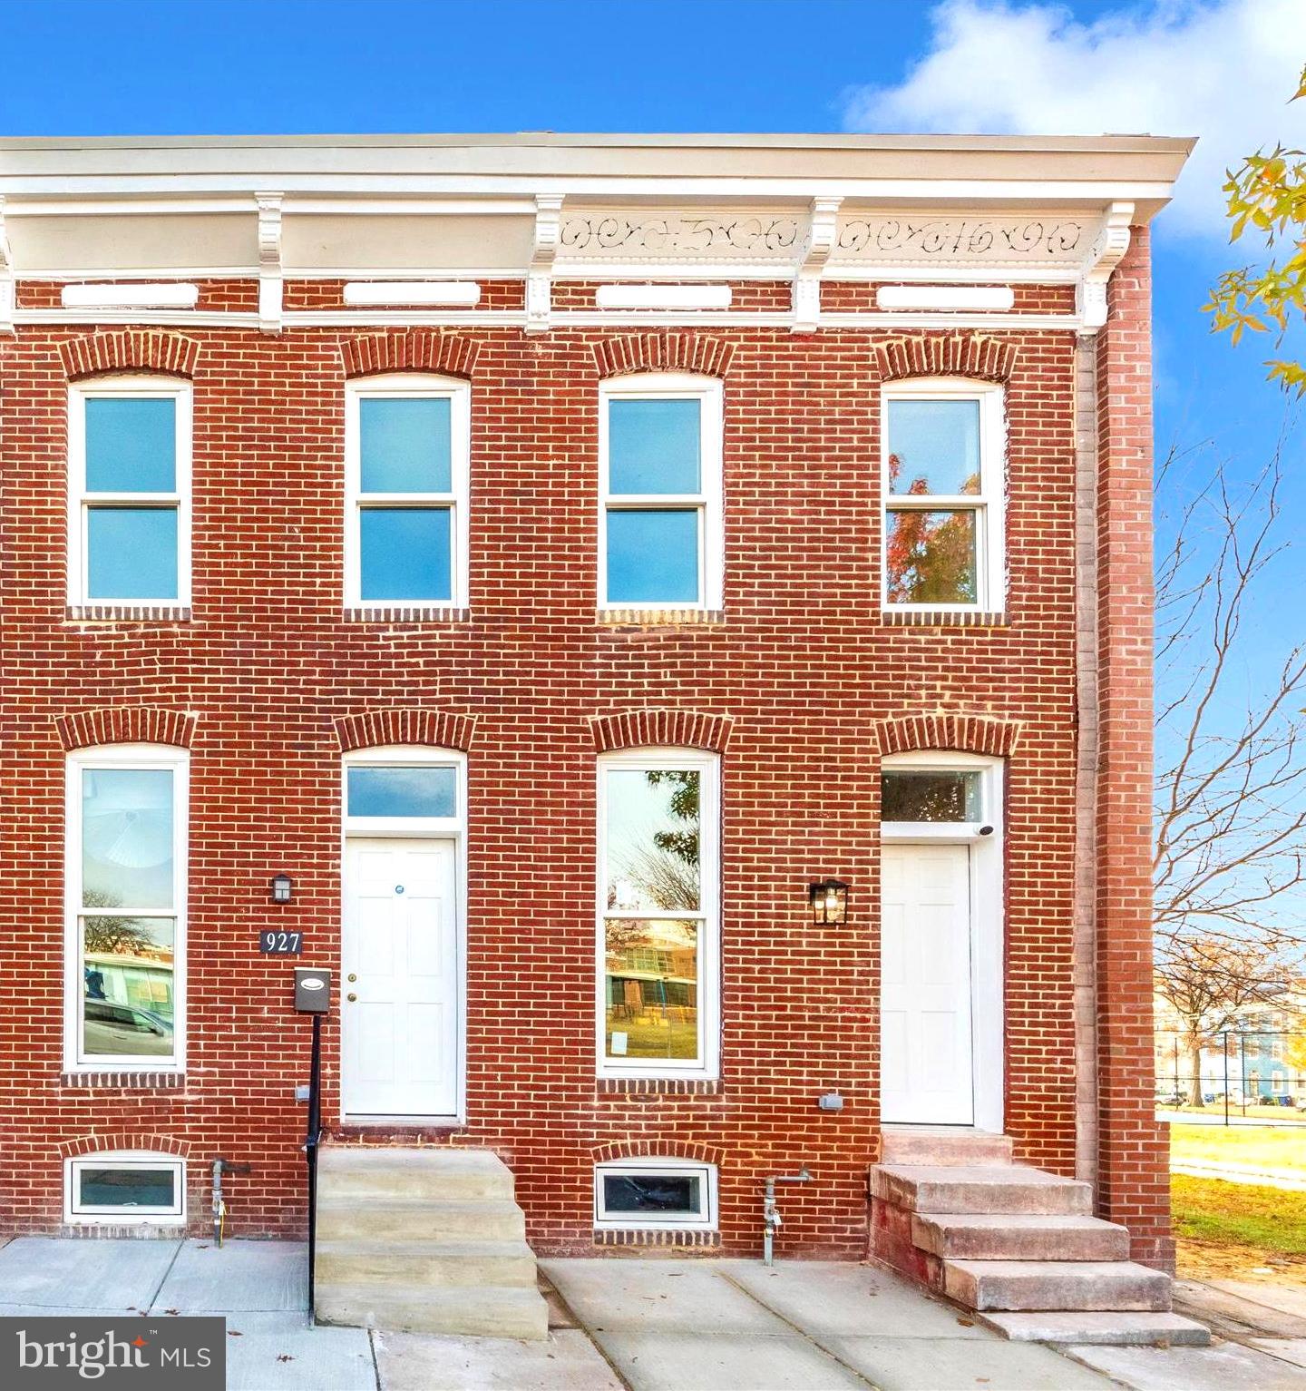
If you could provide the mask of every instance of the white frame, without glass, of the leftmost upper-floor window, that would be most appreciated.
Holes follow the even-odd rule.
[[[86,491],[86,402],[131,398],[175,402],[177,477],[172,492]],[[68,387],[68,602],[74,605],[127,605],[175,608],[191,605],[191,498],[195,394],[189,381],[170,377],[95,377]],[[92,506],[145,506],[177,512],[177,595],[171,598],[90,597],[89,509]]]

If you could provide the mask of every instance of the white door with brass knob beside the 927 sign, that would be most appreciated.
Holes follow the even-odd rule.
[[[349,839],[341,942],[348,1117],[458,1111],[452,840]]]

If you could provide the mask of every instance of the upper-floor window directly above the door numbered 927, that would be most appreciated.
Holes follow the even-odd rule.
[[[471,391],[367,377],[345,401],[345,602],[466,608]]]

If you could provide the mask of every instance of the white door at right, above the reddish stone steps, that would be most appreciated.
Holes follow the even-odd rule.
[[[975,1121],[969,846],[885,844],[880,1118]]]

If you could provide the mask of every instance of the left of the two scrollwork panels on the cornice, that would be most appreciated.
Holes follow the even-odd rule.
[[[572,213],[559,252],[567,260],[791,260],[801,243],[800,218],[771,213]]]

